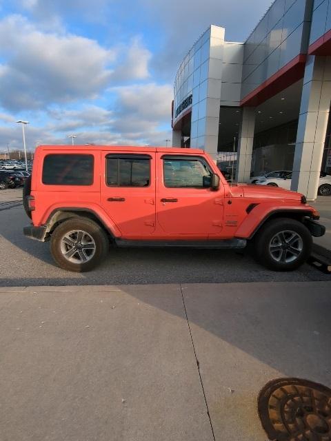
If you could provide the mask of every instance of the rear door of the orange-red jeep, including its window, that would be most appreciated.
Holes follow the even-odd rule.
[[[101,152],[101,204],[123,238],[155,229],[155,153]]]

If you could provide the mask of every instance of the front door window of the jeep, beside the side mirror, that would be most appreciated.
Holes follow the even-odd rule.
[[[165,187],[210,187],[212,171],[201,158],[163,157],[163,177]]]

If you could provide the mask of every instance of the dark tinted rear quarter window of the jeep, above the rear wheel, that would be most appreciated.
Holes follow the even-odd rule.
[[[48,154],[43,160],[43,184],[92,185],[92,154]]]

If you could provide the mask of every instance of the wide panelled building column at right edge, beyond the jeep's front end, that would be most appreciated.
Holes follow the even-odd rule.
[[[331,57],[308,56],[305,65],[291,189],[317,198],[331,101]]]

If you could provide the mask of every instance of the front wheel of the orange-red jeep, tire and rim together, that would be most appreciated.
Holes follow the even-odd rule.
[[[298,220],[278,218],[261,227],[254,245],[255,256],[263,266],[274,271],[293,271],[310,256],[312,236]]]

